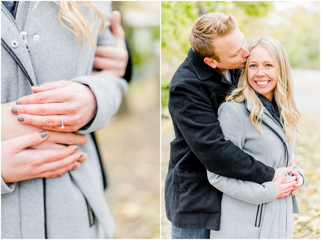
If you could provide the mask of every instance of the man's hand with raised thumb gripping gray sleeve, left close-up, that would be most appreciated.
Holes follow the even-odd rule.
[[[120,25],[121,15],[117,10],[112,11],[110,29],[115,36],[113,46],[97,46],[94,68],[91,75],[114,75],[123,77],[128,63],[128,51],[125,42],[125,32]]]

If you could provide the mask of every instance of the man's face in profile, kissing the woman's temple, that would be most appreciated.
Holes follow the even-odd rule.
[[[215,46],[215,53],[220,58],[220,62],[213,59],[213,63],[221,71],[245,67],[250,52],[247,50],[244,34],[238,28],[224,37],[214,39],[213,46]]]

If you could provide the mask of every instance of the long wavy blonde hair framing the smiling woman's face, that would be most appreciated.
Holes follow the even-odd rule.
[[[287,55],[282,45],[275,39],[269,37],[257,37],[249,46],[251,51],[257,46],[265,47],[271,54],[274,67],[277,74],[277,84],[274,89],[274,100],[280,111],[280,122],[288,141],[295,139],[299,130],[298,120],[300,113],[293,100],[293,80],[291,76],[291,67]],[[250,120],[254,126],[263,134],[261,127],[263,104],[256,95],[255,90],[248,83],[247,69],[248,59],[245,68],[240,76],[238,86],[227,97],[226,101],[243,102],[245,99],[253,104],[253,110],[250,113]]]

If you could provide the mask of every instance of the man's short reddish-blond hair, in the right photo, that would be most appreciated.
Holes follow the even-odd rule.
[[[189,42],[193,51],[200,58],[213,58],[220,62],[220,58],[215,54],[212,40],[217,37],[224,37],[236,27],[239,27],[239,24],[230,13],[228,15],[224,13],[207,13],[194,22],[189,35]]]

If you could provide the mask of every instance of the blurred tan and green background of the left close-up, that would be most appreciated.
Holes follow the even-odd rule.
[[[160,2],[112,2],[120,11],[132,79],[117,115],[96,133],[116,222],[113,238],[160,238]]]

